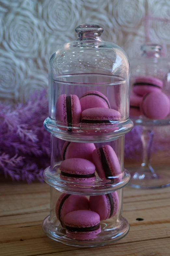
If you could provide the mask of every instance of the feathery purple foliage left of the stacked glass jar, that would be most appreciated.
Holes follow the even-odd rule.
[[[50,165],[47,92],[35,92],[26,104],[0,105],[0,173],[13,180],[43,181]]]

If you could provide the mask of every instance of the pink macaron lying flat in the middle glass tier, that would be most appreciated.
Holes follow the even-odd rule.
[[[60,177],[64,180],[81,181],[83,183],[95,180],[95,165],[87,159],[69,158],[60,164]]]

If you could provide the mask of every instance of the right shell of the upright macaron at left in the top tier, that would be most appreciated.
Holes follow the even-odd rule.
[[[71,94],[71,112],[72,112],[72,123],[77,124],[81,121],[81,106],[77,95]]]

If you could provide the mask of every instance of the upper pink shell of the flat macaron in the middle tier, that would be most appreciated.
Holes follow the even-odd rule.
[[[69,158],[60,164],[60,170],[70,174],[88,175],[95,172],[95,165],[87,159]]]

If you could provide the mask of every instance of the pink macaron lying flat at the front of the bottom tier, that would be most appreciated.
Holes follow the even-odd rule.
[[[72,239],[94,239],[101,232],[99,214],[88,210],[67,213],[64,224],[66,236]]]

